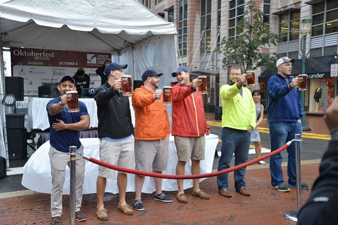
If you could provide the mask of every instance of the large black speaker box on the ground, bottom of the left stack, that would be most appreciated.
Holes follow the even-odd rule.
[[[27,159],[27,129],[7,129],[8,157],[10,160]]]

